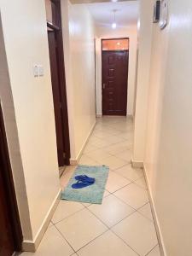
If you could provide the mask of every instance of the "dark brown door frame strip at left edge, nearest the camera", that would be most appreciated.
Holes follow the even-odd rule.
[[[2,177],[3,177],[5,192],[7,195],[6,200],[8,201],[8,208],[9,208],[8,218],[12,227],[15,252],[21,252],[23,236],[22,236],[20,215],[19,215],[16,194],[15,194],[13,172],[12,172],[12,168],[9,160],[9,148],[7,143],[7,136],[6,136],[5,126],[4,126],[3,111],[2,111],[1,105],[0,105],[0,137],[1,137],[0,158],[3,162]]]

